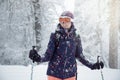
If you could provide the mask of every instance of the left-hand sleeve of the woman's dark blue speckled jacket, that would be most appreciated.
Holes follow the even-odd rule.
[[[50,59],[53,56],[54,49],[55,49],[55,35],[54,35],[54,33],[52,33],[50,36],[50,40],[49,40],[49,43],[47,46],[47,50],[44,54],[44,57],[41,58],[41,62],[50,61]]]

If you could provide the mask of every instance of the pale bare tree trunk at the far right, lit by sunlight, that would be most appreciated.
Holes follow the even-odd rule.
[[[119,0],[110,0],[109,66],[118,68]]]

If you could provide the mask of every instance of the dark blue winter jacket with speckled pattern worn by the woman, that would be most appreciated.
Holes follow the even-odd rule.
[[[75,76],[77,72],[76,59],[92,68],[93,64],[83,56],[81,40],[75,33],[74,25],[72,24],[69,33],[66,33],[60,24],[57,27],[58,34],[51,34],[45,56],[41,59],[41,62],[49,61],[47,75],[61,79]]]

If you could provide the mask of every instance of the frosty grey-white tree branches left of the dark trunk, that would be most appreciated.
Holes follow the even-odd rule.
[[[1,64],[24,64],[28,60],[34,44],[33,19],[29,0],[0,0]]]

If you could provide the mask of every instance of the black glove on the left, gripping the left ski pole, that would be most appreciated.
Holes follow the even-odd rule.
[[[29,58],[34,62],[41,62],[41,56],[37,53],[35,49],[30,50]]]

